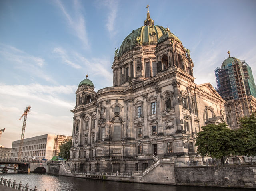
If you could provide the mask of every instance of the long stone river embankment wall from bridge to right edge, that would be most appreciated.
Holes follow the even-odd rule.
[[[48,173],[70,177],[204,187],[256,188],[256,165],[188,166],[159,164],[143,176],[108,176],[67,173],[62,164],[52,164]]]

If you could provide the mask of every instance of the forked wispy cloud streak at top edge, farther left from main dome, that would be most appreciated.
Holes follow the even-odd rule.
[[[74,14],[68,12],[60,0],[56,0],[56,4],[64,14],[69,28],[74,30],[74,35],[84,43],[86,48],[88,48],[89,41],[86,32],[84,14],[80,2],[78,0],[73,1],[74,9],[72,12],[74,12]]]

